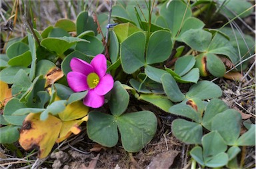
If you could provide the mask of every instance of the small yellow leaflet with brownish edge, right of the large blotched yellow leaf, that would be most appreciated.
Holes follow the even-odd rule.
[[[82,122],[83,120],[72,120],[63,122],[63,125],[61,126],[61,132],[59,133],[59,138],[56,140],[56,142],[62,142],[63,140],[68,138],[72,133],[79,134],[79,132],[81,132],[79,125]]]

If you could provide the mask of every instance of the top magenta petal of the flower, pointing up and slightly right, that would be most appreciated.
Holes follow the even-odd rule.
[[[97,73],[99,78],[103,77],[107,71],[107,59],[105,55],[96,55],[91,61],[91,66],[93,66],[94,71]]]

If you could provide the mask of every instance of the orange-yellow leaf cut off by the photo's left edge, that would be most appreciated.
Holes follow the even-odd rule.
[[[11,88],[8,87],[7,83],[0,81],[0,108],[5,106],[5,104],[7,104],[11,97]]]

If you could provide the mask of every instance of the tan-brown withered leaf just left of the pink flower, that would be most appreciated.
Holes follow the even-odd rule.
[[[47,75],[45,75],[46,84],[45,86],[53,85],[56,81],[61,79],[63,77],[63,71],[59,69],[58,67],[55,67],[54,69],[51,69]]]

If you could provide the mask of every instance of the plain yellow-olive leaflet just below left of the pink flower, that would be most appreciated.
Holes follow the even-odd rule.
[[[63,112],[59,113],[59,118],[63,121],[76,120],[88,114],[89,108],[81,101],[68,104]]]

